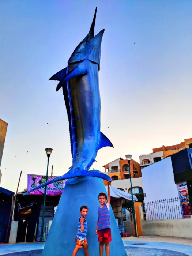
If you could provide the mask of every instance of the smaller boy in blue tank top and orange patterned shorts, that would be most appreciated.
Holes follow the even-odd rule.
[[[88,251],[88,244],[87,244],[87,221],[86,221],[86,216],[88,214],[88,207],[83,205],[80,208],[80,217],[78,221],[78,230],[77,234],[75,237],[76,246],[75,249],[72,253],[72,256],[76,256],[77,252],[79,251],[80,248],[84,247],[84,254],[86,256],[89,256],[89,251]]]

